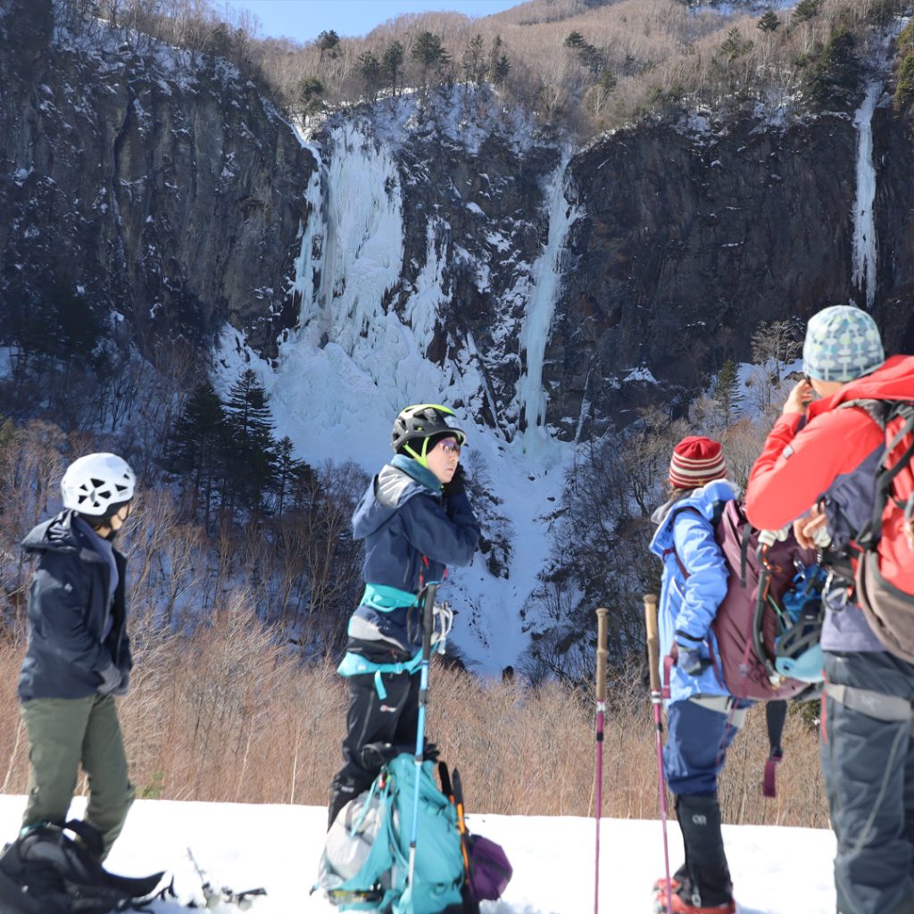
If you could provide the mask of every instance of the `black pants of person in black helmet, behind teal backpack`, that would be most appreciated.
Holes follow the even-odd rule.
[[[381,766],[396,752],[413,752],[419,728],[419,674],[382,673],[387,696],[377,694],[373,674],[350,676],[349,713],[343,740],[343,767],[336,772],[330,797],[329,818],[347,802],[366,791]]]

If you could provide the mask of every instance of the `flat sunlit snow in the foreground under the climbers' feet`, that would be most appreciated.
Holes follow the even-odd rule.
[[[74,812],[83,801],[74,802]],[[25,799],[0,795],[0,832],[16,834]],[[157,901],[155,914],[202,903],[186,854],[217,884],[235,891],[265,887],[252,914],[319,914],[335,908],[309,897],[321,856],[326,813],[314,806],[137,801],[108,866],[125,875],[167,868],[183,904]],[[515,875],[505,897],[484,902],[484,914],[585,914],[593,910],[593,819],[469,816],[471,831],[505,847]],[[670,824],[672,866],[680,862],[678,827]],[[833,914],[831,832],[725,825],[740,914]],[[600,911],[648,914],[651,886],[663,873],[659,822],[604,819],[600,824]],[[216,914],[236,910],[221,906]]]

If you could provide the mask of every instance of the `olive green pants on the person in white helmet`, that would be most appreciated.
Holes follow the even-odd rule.
[[[23,826],[64,821],[81,762],[89,777],[85,818],[101,832],[103,859],[135,794],[113,697],[33,698],[21,708],[32,763]]]

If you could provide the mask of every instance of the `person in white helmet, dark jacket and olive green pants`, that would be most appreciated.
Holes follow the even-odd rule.
[[[31,761],[23,833],[66,820],[81,764],[90,791],[85,819],[101,834],[101,859],[134,796],[114,702],[126,695],[133,665],[126,559],[112,541],[130,515],[135,483],[115,454],[80,457],[60,483],[64,510],[22,544],[37,557],[19,674]]]

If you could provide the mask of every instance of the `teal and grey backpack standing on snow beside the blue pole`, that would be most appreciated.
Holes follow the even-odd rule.
[[[416,872],[409,882],[409,835],[416,761],[388,762],[370,790],[349,802],[327,833],[315,889],[344,911],[442,914],[462,911],[463,858],[457,813],[438,789],[430,761],[420,768]]]

